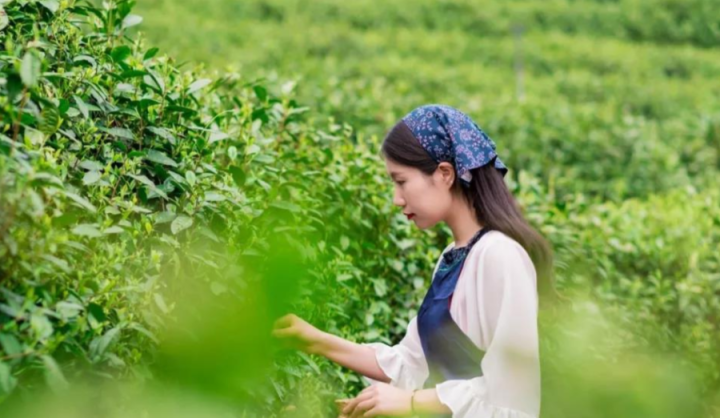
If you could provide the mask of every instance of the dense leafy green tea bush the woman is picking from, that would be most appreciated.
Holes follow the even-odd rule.
[[[5,396],[43,376],[61,390],[84,370],[152,374],[139,370],[155,362],[182,296],[202,294],[195,282],[243,306],[253,297],[243,292],[252,266],[268,265],[255,267],[257,276],[278,273],[268,260],[281,246],[317,262],[310,286],[329,292],[327,300],[347,297],[347,306],[297,305],[335,332],[371,324],[373,315],[387,323],[396,303],[407,305],[394,295],[369,313],[345,313],[368,294],[389,294],[385,276],[407,268],[419,283],[431,261],[424,251],[404,264],[380,256],[413,241],[397,216],[386,216],[389,201],[367,188],[387,187],[377,142],[332,120],[315,128],[292,83],[276,94],[237,74],[181,71],[125,36],[140,20],[131,2],[45,3],[6,5],[3,32]],[[366,258],[377,261],[360,269]],[[280,284],[302,278],[302,270],[286,273],[296,276]],[[291,296],[261,319],[276,317]],[[276,395],[295,386],[293,370],[317,367],[308,357],[288,360]]]

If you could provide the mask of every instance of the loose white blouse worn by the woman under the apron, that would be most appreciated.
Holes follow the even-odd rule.
[[[443,254],[454,246],[451,243]],[[435,264],[433,277],[442,255]],[[535,266],[525,249],[503,232],[487,232],[470,249],[458,278],[450,316],[481,350],[483,375],[435,386],[453,418],[537,418],[540,414],[538,296]],[[417,316],[405,337],[375,349],[390,385],[422,389],[429,376]],[[377,380],[363,376],[370,384]]]

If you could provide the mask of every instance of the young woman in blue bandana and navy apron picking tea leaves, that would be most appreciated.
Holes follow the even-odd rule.
[[[273,334],[366,377],[348,417],[536,418],[540,413],[538,290],[552,288],[552,252],[524,220],[493,141],[445,105],[414,109],[382,153],[393,203],[418,228],[445,222],[454,242],[398,344],[357,344],[295,315]]]

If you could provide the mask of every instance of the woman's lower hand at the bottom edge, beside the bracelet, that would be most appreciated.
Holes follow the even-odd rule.
[[[343,415],[348,418],[378,415],[409,416],[411,396],[412,391],[379,382],[366,387],[358,396],[350,400],[343,409]]]

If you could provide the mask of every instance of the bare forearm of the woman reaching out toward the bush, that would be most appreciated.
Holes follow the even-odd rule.
[[[375,349],[344,338],[323,333],[316,354],[327,357],[341,366],[371,379],[388,383],[390,378],[382,371],[375,358]]]

